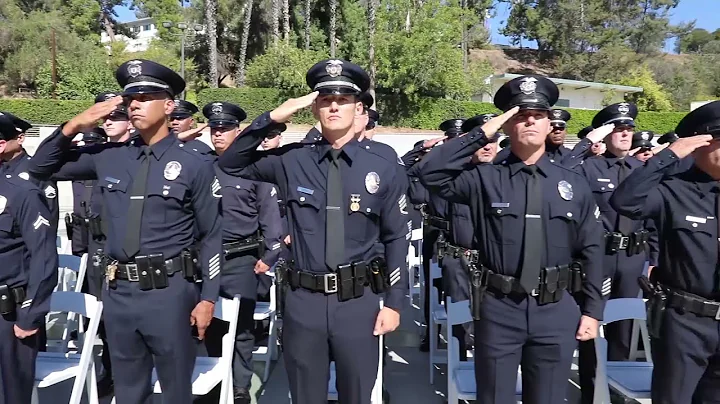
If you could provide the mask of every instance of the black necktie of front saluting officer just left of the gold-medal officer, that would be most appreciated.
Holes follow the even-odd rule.
[[[123,251],[129,259],[140,251],[142,209],[147,196],[147,177],[150,172],[150,147],[142,146],[142,153],[140,168],[135,174],[130,190],[130,209],[128,209],[127,230],[125,230],[125,242],[123,243]]]

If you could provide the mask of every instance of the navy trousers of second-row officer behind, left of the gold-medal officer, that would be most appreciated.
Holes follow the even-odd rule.
[[[252,352],[255,348],[253,314],[258,288],[258,276],[254,269],[258,258],[253,254],[246,254],[231,255],[225,259],[223,272],[220,275],[220,295],[228,299],[240,296],[240,313],[233,355],[233,385],[237,388],[249,389],[253,375]],[[227,330],[226,322],[213,319],[205,333],[208,356],[222,356],[222,337]]]

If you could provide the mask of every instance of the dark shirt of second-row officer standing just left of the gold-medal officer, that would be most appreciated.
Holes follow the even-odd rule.
[[[222,187],[223,243],[260,234],[265,243],[262,261],[273,266],[280,255],[282,232],[275,187],[266,182],[234,177],[215,168]]]

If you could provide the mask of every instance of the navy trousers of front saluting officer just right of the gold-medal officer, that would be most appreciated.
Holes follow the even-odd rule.
[[[572,296],[540,306],[533,297],[488,289],[481,307],[475,321],[476,402],[514,403],[520,365],[523,403],[562,403],[580,322]]]

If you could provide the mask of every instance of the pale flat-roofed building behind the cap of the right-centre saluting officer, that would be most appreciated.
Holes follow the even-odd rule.
[[[490,85],[490,94],[495,94],[503,84],[521,76],[520,74],[504,73],[488,77],[486,83]],[[603,108],[603,100],[605,100],[606,95],[610,96],[609,103],[613,104],[624,101],[625,95],[627,94],[641,93],[643,91],[642,87],[558,79],[554,77],[549,77],[549,79],[557,84],[560,89],[560,98],[557,104],[555,104],[555,106],[559,108],[599,110]],[[492,96],[483,94],[474,97],[474,100],[492,103]]]

